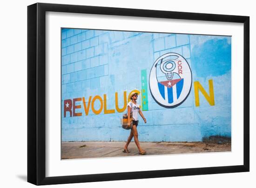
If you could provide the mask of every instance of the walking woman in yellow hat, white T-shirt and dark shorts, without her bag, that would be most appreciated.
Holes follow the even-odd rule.
[[[138,114],[141,115],[141,117],[143,118],[144,122],[147,123],[144,115],[142,114],[141,112],[141,109],[140,109],[140,105],[137,104],[136,100],[138,98],[138,94],[135,93],[135,92],[132,92],[131,93],[131,101],[128,103],[127,107],[128,107],[128,123],[132,125],[132,128],[131,128],[131,132],[130,132],[130,135],[128,137],[128,140],[124,146],[124,149],[123,149],[123,152],[124,153],[130,153],[130,151],[128,150],[128,145],[130,143],[130,141],[132,140],[132,138],[134,137],[134,141],[135,141],[135,144],[136,146],[138,147],[139,149],[139,154],[143,155],[143,154],[146,154],[146,151],[143,150],[140,146],[140,142],[139,142],[139,139],[138,139],[138,131],[137,131],[137,126],[138,126]],[[132,115],[133,115],[133,119],[130,120],[130,113],[132,112]]]

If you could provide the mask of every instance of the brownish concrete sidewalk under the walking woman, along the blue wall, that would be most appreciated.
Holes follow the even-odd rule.
[[[61,159],[139,156],[135,142],[128,146],[130,153],[123,153],[124,141],[62,142]],[[147,155],[188,154],[231,151],[231,143],[204,142],[140,142]]]

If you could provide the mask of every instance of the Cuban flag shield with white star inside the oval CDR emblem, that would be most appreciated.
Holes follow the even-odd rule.
[[[162,98],[168,103],[173,103],[179,99],[183,88],[183,78],[160,81],[158,82],[158,89]]]

